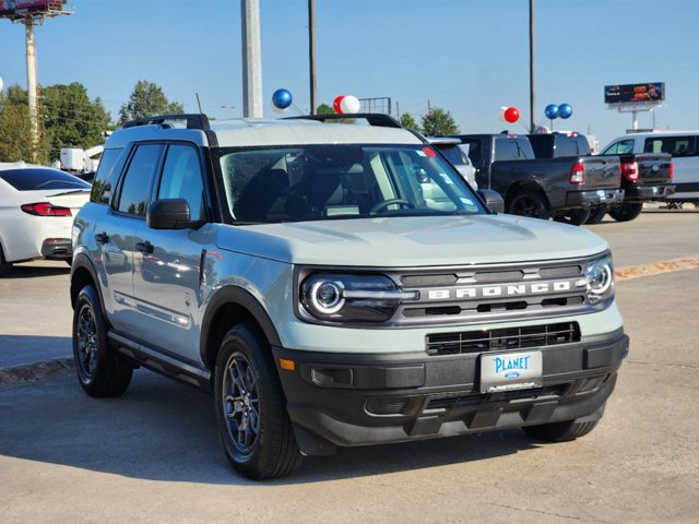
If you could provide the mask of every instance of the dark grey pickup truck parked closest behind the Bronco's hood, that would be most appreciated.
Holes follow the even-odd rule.
[[[536,155],[526,135],[458,138],[470,145],[478,188],[499,192],[508,213],[581,225],[591,209],[624,199],[619,158],[591,156],[584,136],[557,144],[560,154],[552,156],[543,154],[543,142],[537,144],[542,155]]]

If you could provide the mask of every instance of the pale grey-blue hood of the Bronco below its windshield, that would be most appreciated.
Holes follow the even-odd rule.
[[[569,259],[607,249],[583,228],[514,215],[223,226],[217,246],[294,264],[374,267]]]

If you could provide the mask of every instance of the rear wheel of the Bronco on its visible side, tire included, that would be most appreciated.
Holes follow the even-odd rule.
[[[73,359],[78,381],[90,396],[120,396],[129,388],[133,367],[107,341],[107,322],[92,284],[78,294],[73,310]]]

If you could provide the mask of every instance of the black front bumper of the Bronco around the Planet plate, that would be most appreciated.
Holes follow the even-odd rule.
[[[623,330],[544,346],[543,383],[482,393],[481,354],[337,355],[273,347],[297,441],[306,454],[600,417],[628,353]]]

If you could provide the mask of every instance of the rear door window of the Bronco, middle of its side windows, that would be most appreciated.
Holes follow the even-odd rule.
[[[163,146],[159,144],[144,144],[135,150],[123,177],[118,211],[130,215],[145,216],[151,184],[155,168],[161,159],[162,150]]]

